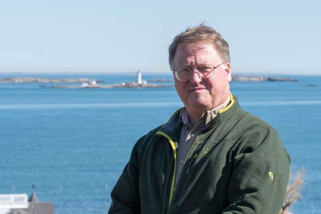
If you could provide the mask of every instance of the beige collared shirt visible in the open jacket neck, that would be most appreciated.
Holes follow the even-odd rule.
[[[195,126],[190,123],[190,117],[185,108],[183,108],[180,111],[179,119],[183,123],[182,130],[180,132],[180,138],[178,143],[178,149],[177,149],[177,161],[176,161],[176,173],[175,173],[175,188],[177,185],[177,181],[179,179],[181,170],[185,164],[184,159],[186,155],[189,153],[189,150],[196,140],[198,134],[207,127],[208,123],[213,120],[219,113],[220,110],[224,109],[229,102],[231,101],[231,98],[228,97],[225,102],[223,102],[221,105],[217,106],[216,108],[209,110],[205,112],[197,121]],[[174,188],[174,191],[175,191]]]

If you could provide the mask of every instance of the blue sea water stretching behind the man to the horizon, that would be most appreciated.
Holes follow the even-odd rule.
[[[132,81],[129,74],[32,76]],[[148,81],[171,75],[143,77]],[[319,213],[321,76],[289,77],[299,82],[231,83],[231,92],[244,109],[278,130],[291,156],[291,170],[306,169],[302,198],[292,211]],[[133,144],[182,106],[174,88],[52,89],[39,85],[0,84],[0,194],[30,195],[35,184],[38,198],[53,202],[58,214],[106,213],[110,192]]]

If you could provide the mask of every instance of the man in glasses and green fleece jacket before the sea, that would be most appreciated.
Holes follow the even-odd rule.
[[[184,108],[133,147],[109,213],[279,213],[289,156],[230,93],[228,43],[201,24],[173,39],[169,63]]]

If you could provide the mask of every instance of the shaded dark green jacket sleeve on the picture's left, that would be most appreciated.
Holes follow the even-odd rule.
[[[108,211],[109,214],[140,213],[138,148],[143,139],[144,137],[133,147],[129,162],[112,190],[112,204]]]

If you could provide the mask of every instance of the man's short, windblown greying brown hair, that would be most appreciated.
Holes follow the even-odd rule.
[[[195,44],[199,42],[205,42],[213,44],[216,50],[218,51],[221,59],[224,62],[230,62],[230,53],[228,50],[228,43],[223,39],[221,34],[212,29],[209,26],[206,26],[204,23],[201,23],[198,26],[193,28],[188,28],[184,32],[175,36],[172,41],[172,44],[168,48],[169,57],[168,61],[171,67],[171,70],[174,70],[174,56],[177,49],[177,46],[180,43]]]

